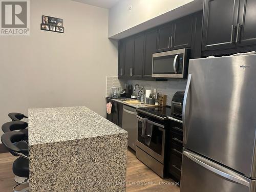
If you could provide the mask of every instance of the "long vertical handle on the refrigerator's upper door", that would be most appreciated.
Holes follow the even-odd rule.
[[[182,109],[182,121],[183,121],[183,144],[185,145],[187,143],[187,130],[186,130],[186,104],[187,104],[187,96],[188,96],[188,91],[189,91],[189,87],[190,87],[190,83],[191,83],[191,77],[192,74],[188,74],[187,77],[187,86],[186,86],[186,90],[185,90],[185,94],[184,94],[184,100],[183,100],[183,109]]]

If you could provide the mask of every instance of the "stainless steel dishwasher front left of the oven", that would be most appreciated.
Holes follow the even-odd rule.
[[[123,105],[122,129],[128,132],[128,146],[136,151],[138,120],[136,109]]]

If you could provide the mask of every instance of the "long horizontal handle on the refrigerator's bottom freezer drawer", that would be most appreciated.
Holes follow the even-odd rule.
[[[183,155],[185,155],[187,158],[189,158],[190,160],[194,161],[195,163],[201,165],[202,167],[210,170],[211,172],[214,172],[216,173],[217,175],[220,175],[228,180],[231,180],[233,182],[236,182],[236,183],[240,183],[244,186],[247,186],[247,187],[250,187],[250,179],[246,178],[246,177],[243,177],[235,172],[232,172],[231,170],[228,170],[227,168],[224,168],[224,169],[227,169],[227,172],[230,172],[232,174],[229,174],[227,172],[224,172],[224,170],[220,170],[218,169],[218,164],[214,163],[214,162],[211,162],[205,158],[200,158],[200,160],[197,158],[198,155],[196,154],[193,154],[193,153],[190,153],[188,152],[187,150],[183,150]],[[198,156],[199,157],[199,156]],[[209,165],[211,164],[211,165]],[[216,164],[216,166],[214,167],[214,165]]]

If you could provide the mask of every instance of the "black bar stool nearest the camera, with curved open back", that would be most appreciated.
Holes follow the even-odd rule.
[[[2,143],[6,146],[6,148],[9,150],[9,152],[12,152],[19,156],[12,165],[12,171],[13,173],[18,177],[27,178],[23,183],[17,184],[13,187],[14,192],[28,192],[29,187],[26,187],[20,191],[17,191],[16,188],[19,185],[27,184],[28,178],[29,178],[29,148],[28,146],[26,148],[19,148],[17,145],[13,143],[17,143],[19,141],[22,141],[25,137],[24,133],[21,132],[7,132],[4,133],[1,136]]]

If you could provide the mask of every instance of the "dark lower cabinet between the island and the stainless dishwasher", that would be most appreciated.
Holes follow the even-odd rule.
[[[106,119],[122,127],[123,104],[112,99],[106,98],[106,103],[109,102],[111,102],[112,104],[112,110],[111,114],[106,114]]]

